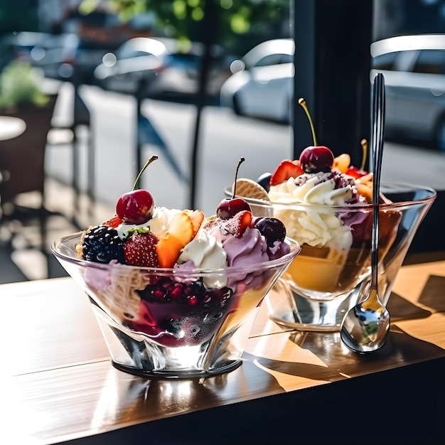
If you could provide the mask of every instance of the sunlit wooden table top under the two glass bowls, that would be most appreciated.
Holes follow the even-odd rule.
[[[445,358],[444,289],[445,261],[402,267],[388,304],[390,338],[372,354],[347,350],[338,333],[277,326],[264,304],[240,368],[205,379],[147,380],[111,365],[87,297],[73,279],[2,284],[0,389],[9,406],[2,420],[17,440],[9,443],[98,439],[107,431],[165,425],[188,419],[185,414],[280,395],[303,397],[312,388]]]

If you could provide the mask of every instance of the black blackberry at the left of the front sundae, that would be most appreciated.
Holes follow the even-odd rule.
[[[124,264],[124,241],[112,227],[96,225],[85,233],[82,254],[87,261],[109,263],[112,259],[117,259]]]

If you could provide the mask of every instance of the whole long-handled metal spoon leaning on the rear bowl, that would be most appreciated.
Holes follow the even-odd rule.
[[[385,344],[390,331],[390,313],[378,293],[379,196],[382,168],[383,125],[385,122],[385,80],[377,74],[372,89],[372,235],[371,282],[369,294],[361,299],[343,318],[341,340],[351,350],[367,353]]]

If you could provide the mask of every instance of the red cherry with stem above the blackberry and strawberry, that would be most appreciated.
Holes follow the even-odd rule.
[[[144,224],[152,216],[154,210],[154,198],[148,190],[137,188],[139,186],[139,179],[145,169],[158,159],[158,156],[153,155],[146,161],[144,167],[139,171],[136,181],[134,181],[133,190],[124,193],[116,203],[116,213],[124,223],[129,224]]]

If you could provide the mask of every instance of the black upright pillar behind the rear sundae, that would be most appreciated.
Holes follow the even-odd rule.
[[[362,162],[361,139],[370,139],[372,0],[293,0],[295,50],[294,159],[313,145],[298,104],[304,97],[318,145]],[[368,163],[366,164],[368,165]]]

